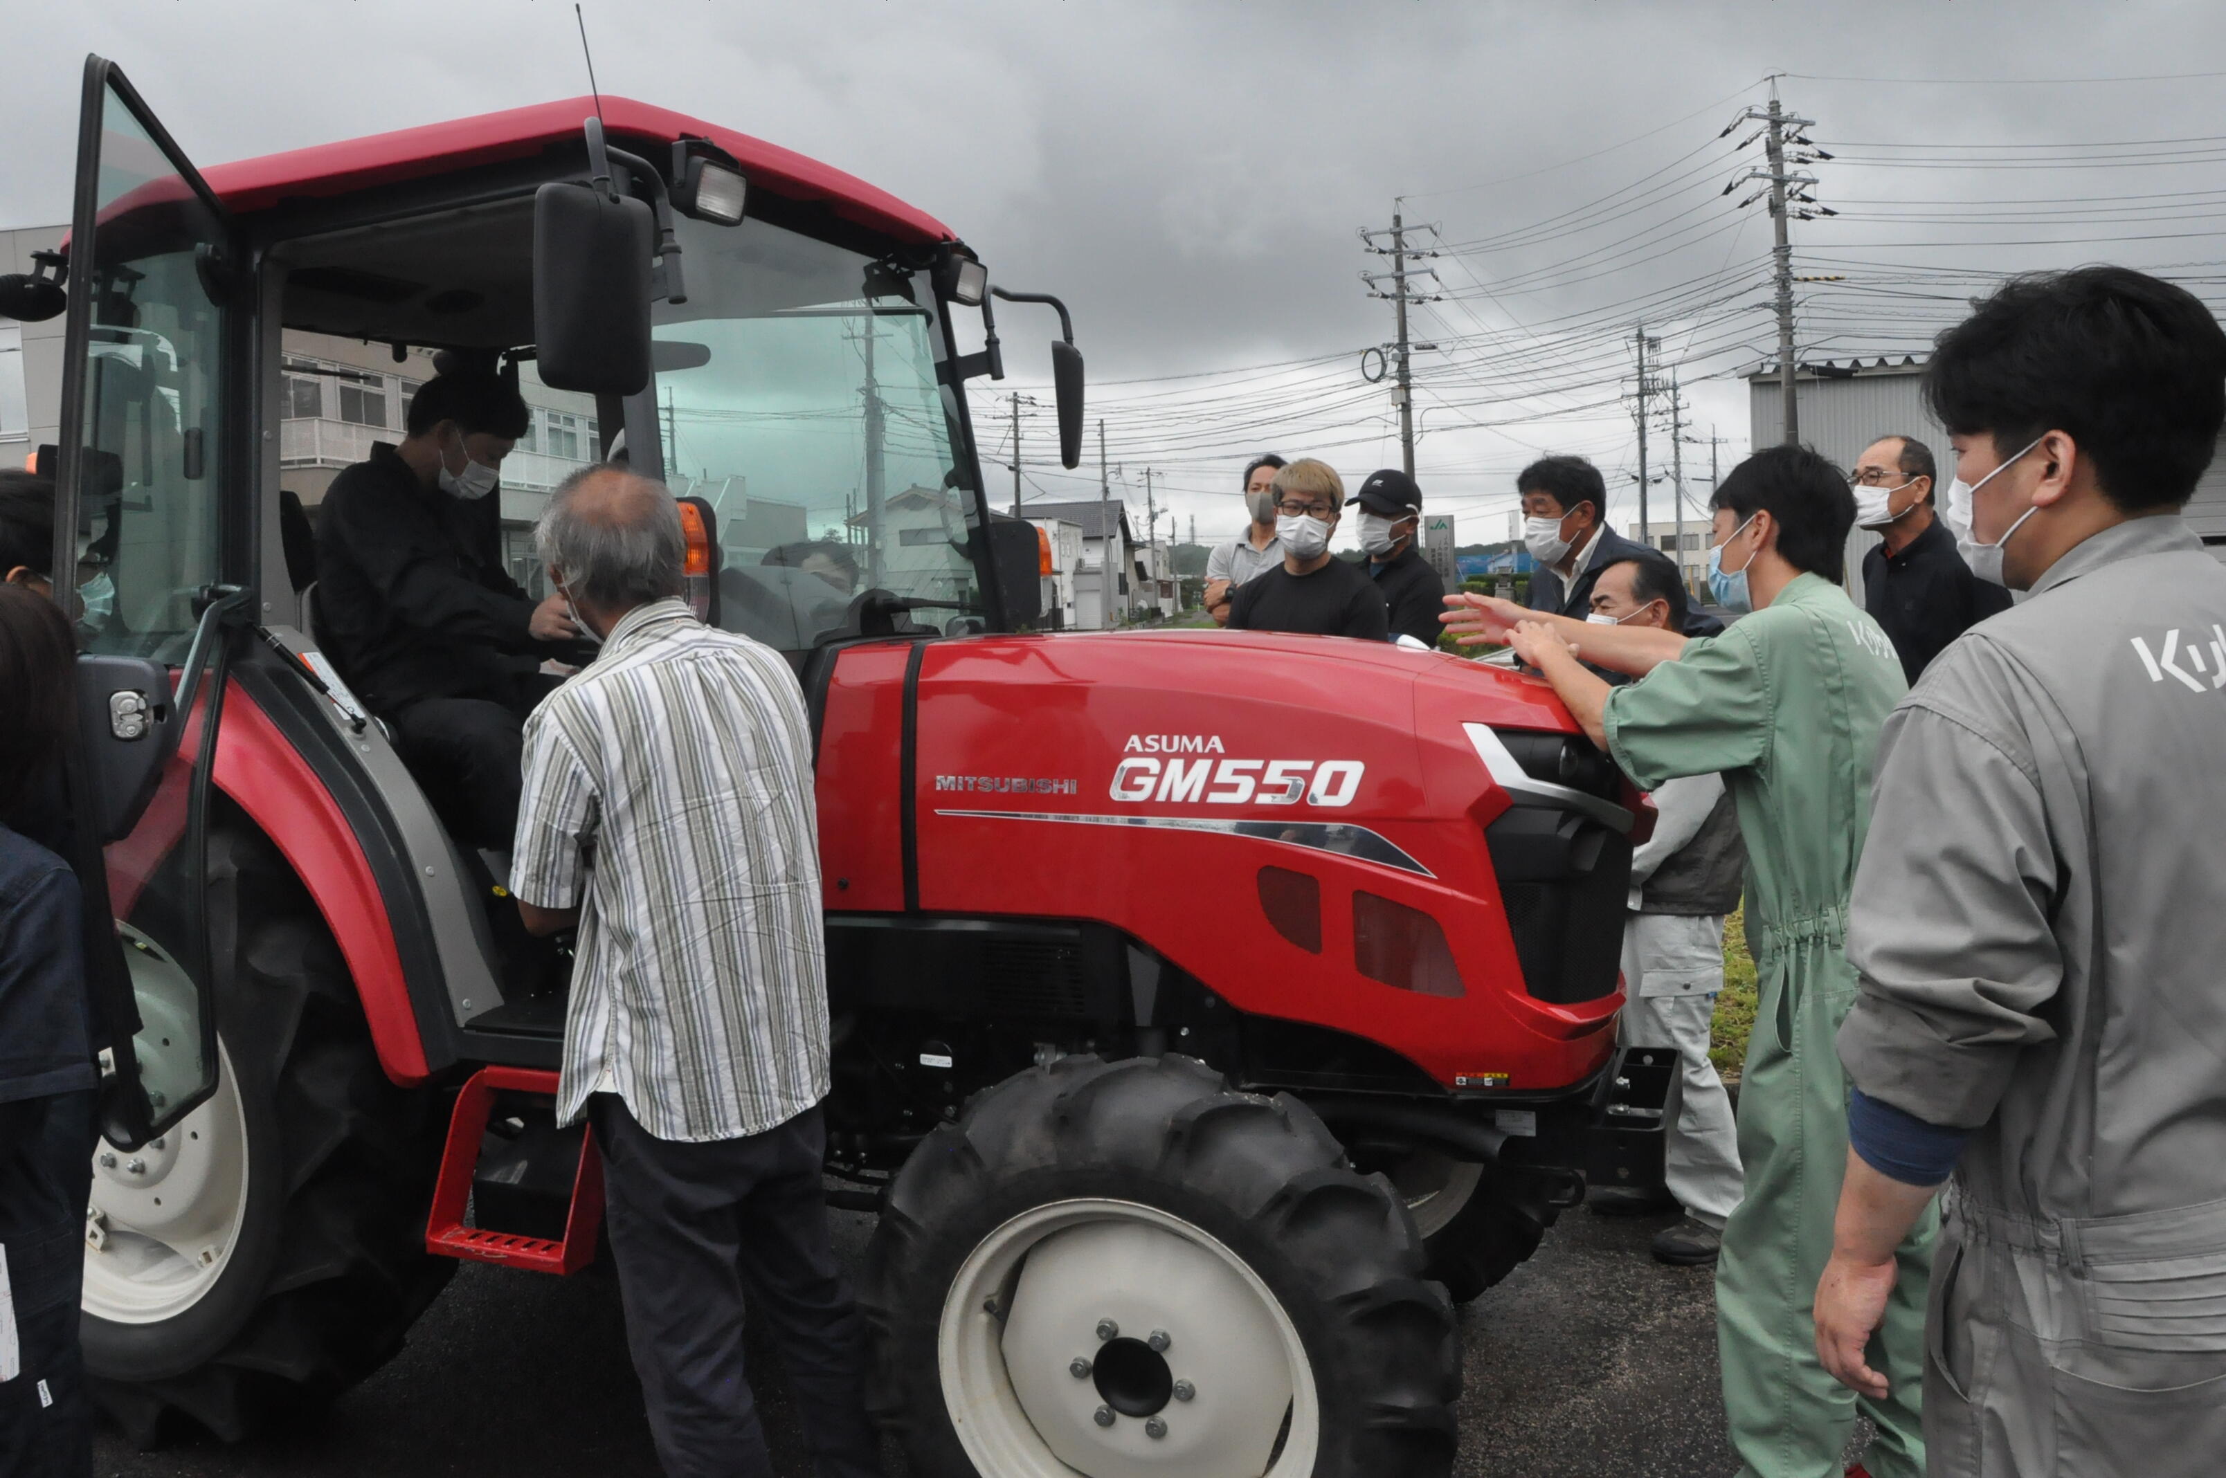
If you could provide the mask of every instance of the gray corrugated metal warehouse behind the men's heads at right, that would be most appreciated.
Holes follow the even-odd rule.
[[[1834,467],[1852,467],[1861,450],[1879,436],[1917,436],[1941,463],[1939,494],[1946,496],[1948,479],[1954,476],[1954,454],[1948,447],[1948,432],[1925,412],[1923,396],[1917,394],[1923,367],[1923,356],[1801,365],[1794,376],[1801,441],[1830,456]],[[1781,396],[1776,370],[1747,374],[1747,410],[1754,427],[1750,445],[1770,447],[1785,436]],[[2195,496],[2181,516],[2202,534],[2210,554],[2226,563],[2226,436],[2219,439],[2219,454],[2195,485]],[[1863,554],[1877,543],[1879,536],[1863,530],[1848,536],[1848,592],[1856,601],[1863,599]]]

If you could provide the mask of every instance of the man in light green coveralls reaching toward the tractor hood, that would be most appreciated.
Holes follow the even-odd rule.
[[[1743,614],[1721,637],[1587,625],[1509,601],[1447,597],[1465,643],[1505,641],[1545,674],[1592,741],[1641,788],[1721,772],[1747,841],[1754,1035],[1739,1097],[1747,1195],[1723,1229],[1716,1344],[1741,1474],[1834,1478],[1861,1409],[1877,1478],[1925,1469],[1919,1420],[1934,1218],[1901,1242],[1879,1331],[1885,1400],[1856,1398],[1816,1360],[1810,1307],[1832,1255],[1848,1160],[1848,1084],[1834,1051],[1854,1004],[1841,955],[1848,890],[1870,821],[1879,726],[1908,683],[1894,646],[1839,588],[1854,496],[1823,456],[1770,447],[1714,496],[1710,585]],[[1632,674],[1609,688],[1594,663]]]

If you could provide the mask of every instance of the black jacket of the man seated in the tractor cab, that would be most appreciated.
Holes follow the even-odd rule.
[[[494,499],[418,483],[378,443],[332,481],[316,521],[316,617],[374,712],[418,699],[516,703],[559,648],[532,639],[534,601],[503,572]]]

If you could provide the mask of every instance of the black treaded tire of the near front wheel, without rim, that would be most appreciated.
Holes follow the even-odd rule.
[[[919,1478],[977,1474],[939,1369],[962,1267],[1013,1218],[1062,1200],[1180,1218],[1267,1284],[1318,1393],[1313,1474],[1451,1471],[1454,1316],[1422,1280],[1420,1235],[1400,1200],[1382,1178],[1358,1175],[1302,1102],[1235,1093],[1202,1062],[1169,1055],[1062,1057],[1020,1073],[928,1135],[897,1173],[859,1302],[875,1336],[875,1413]]]

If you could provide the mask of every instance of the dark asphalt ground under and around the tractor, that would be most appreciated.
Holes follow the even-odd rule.
[[[855,1260],[868,1220],[839,1215]],[[1712,1275],[1665,1269],[1665,1218],[1576,1211],[1525,1267],[1462,1311],[1462,1476],[1714,1478],[1736,1467],[1716,1400]],[[810,1460],[775,1358],[752,1373],[781,1474]],[[134,1451],[102,1431],[118,1478],[657,1478],[608,1269],[543,1278],[467,1264],[392,1364],[296,1427],[238,1447]],[[890,1449],[888,1471],[904,1474]]]

